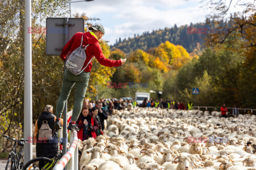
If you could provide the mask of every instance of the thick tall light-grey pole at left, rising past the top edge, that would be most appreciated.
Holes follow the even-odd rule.
[[[31,33],[31,0],[25,0],[25,81],[24,81],[24,138],[32,135],[32,48]],[[32,143],[24,143],[24,164],[32,159]]]

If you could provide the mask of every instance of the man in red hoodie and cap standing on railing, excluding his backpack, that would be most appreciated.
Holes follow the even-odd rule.
[[[114,60],[109,60],[108,58],[105,58],[105,56],[103,55],[102,49],[99,44],[99,40],[105,34],[105,30],[102,27],[102,25],[97,24],[94,27],[89,27],[89,30],[91,30],[91,32],[75,33],[75,35],[63,47],[60,58],[64,62],[67,59],[67,55],[69,53],[71,54],[76,48],[78,48],[81,45],[81,40],[83,36],[82,46],[86,46],[86,45],[89,45],[89,46],[85,50],[86,60],[84,62],[82,69],[84,69],[84,67],[87,65],[87,63],[89,63],[89,61],[93,56],[95,56],[95,58],[98,60],[98,62],[101,65],[108,66],[108,67],[119,66],[125,63],[126,59],[121,58],[120,60],[114,61]],[[88,87],[89,78],[91,75],[91,69],[92,69],[92,63],[90,62],[89,65],[85,68],[85,70],[78,75],[74,75],[73,73],[69,72],[67,69],[65,70],[63,74],[60,97],[57,101],[56,114],[55,114],[57,116],[57,119],[54,123],[55,129],[61,129],[60,117],[65,107],[66,100],[69,97],[70,91],[76,84],[75,104],[73,107],[71,122],[68,125],[68,130],[79,131],[79,128],[76,125],[76,121],[83,106],[83,99],[85,97],[85,93]]]

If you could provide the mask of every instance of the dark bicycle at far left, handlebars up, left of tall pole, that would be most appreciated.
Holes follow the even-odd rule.
[[[6,135],[3,135],[3,137],[5,137],[7,140],[14,141],[14,145],[12,151],[9,154],[5,170],[16,170],[23,168],[23,146],[26,140],[24,140],[23,138],[21,140],[15,140],[14,138],[12,139]],[[16,149],[17,143],[18,146],[20,146],[19,152],[17,152]]]

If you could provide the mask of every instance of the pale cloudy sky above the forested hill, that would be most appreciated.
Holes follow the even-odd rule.
[[[73,0],[76,1],[76,0]],[[134,37],[145,31],[204,22],[210,10],[201,0],[94,0],[71,3],[71,13],[86,13],[99,18],[105,28],[103,40],[113,45],[116,39]],[[238,10],[231,6],[231,11]]]

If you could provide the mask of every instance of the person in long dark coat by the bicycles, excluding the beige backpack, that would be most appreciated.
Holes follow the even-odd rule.
[[[47,157],[53,158],[58,154],[59,145],[58,145],[58,129],[54,131],[54,122],[56,120],[56,116],[52,114],[53,106],[46,105],[44,108],[44,112],[42,112],[36,121],[35,124],[35,139],[36,139],[36,157]],[[53,140],[38,140],[38,131],[41,128],[43,121],[47,121],[50,129],[52,130],[52,138]],[[63,125],[63,119],[60,119],[61,125]],[[44,166],[44,162],[39,162],[39,168],[41,169]]]

